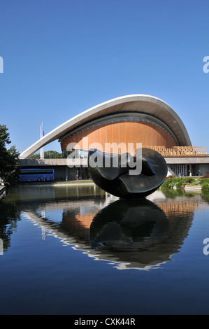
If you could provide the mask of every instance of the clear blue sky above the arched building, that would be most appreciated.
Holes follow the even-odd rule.
[[[209,152],[208,0],[0,0],[0,56],[0,124],[17,149],[42,121],[46,134],[108,99],[151,94]]]

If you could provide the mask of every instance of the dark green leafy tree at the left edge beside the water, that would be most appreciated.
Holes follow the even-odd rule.
[[[8,128],[0,125],[0,178],[8,184],[15,183],[19,177],[18,155],[15,146],[10,144]]]

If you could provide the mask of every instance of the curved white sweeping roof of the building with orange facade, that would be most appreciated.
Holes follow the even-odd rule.
[[[84,111],[78,116],[74,116],[62,125],[48,132],[44,137],[38,139],[36,143],[32,144],[20,154],[19,158],[30,158],[31,155],[36,153],[41,147],[61,139],[68,132],[81,127],[92,120],[96,120],[103,116],[115,115],[116,113],[146,113],[158,120],[161,120],[175,135],[178,140],[179,146],[192,146],[189,139],[189,134],[182,123],[182,120],[177,113],[166,102],[157,97],[147,94],[131,94],[127,96],[117,97],[103,102],[99,105]]]

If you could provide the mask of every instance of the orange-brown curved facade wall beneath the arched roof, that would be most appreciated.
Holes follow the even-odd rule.
[[[97,148],[113,153],[127,152],[128,144],[134,145],[134,151],[137,143],[141,143],[143,147],[164,146],[165,148],[173,148],[176,146],[174,139],[162,127],[154,123],[128,119],[95,125],[76,132],[61,142],[62,150],[66,150],[71,143],[75,143],[73,148]],[[110,148],[108,144],[112,144],[112,147]],[[121,146],[119,151],[117,151],[118,145]]]

